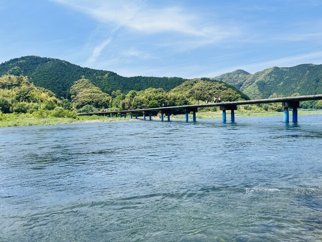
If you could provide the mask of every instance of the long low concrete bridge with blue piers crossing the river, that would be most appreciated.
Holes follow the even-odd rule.
[[[269,98],[269,99],[257,99],[257,100],[245,100],[236,102],[222,102],[222,103],[209,103],[209,104],[196,104],[196,105],[184,105],[184,106],[172,106],[172,107],[160,107],[151,109],[133,109],[133,110],[121,110],[121,111],[106,111],[98,113],[78,114],[79,116],[88,115],[104,115],[108,117],[122,116],[126,117],[127,114],[135,115],[138,119],[138,114],[143,114],[143,120],[146,120],[146,116],[149,116],[149,120],[152,120],[152,113],[161,113],[161,121],[163,121],[163,115],[166,114],[167,120],[170,121],[170,115],[174,110],[183,110],[185,112],[185,120],[188,122],[188,114],[192,112],[193,121],[196,121],[196,112],[198,108],[206,107],[219,107],[222,110],[222,121],[226,121],[226,111],[230,111],[230,120],[235,121],[235,113],[238,105],[247,104],[263,104],[263,103],[281,103],[284,108],[284,122],[289,122],[289,108],[292,108],[292,121],[297,122],[297,109],[300,107],[301,101],[322,100],[322,94],[298,96],[298,97],[284,97],[284,98]]]

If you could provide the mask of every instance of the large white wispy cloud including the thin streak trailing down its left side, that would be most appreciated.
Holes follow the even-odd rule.
[[[117,43],[113,46],[115,55],[118,52],[119,55],[148,60],[152,58],[152,55],[143,50],[138,49],[135,52],[132,50],[132,52],[126,53],[124,49],[130,49],[133,43],[141,43],[146,37],[155,35],[158,37],[150,42],[153,43],[152,48],[159,46],[166,51],[169,51],[170,48],[172,52],[185,52],[220,43],[241,33],[236,24],[216,23],[213,19],[210,21],[191,9],[176,5],[175,2],[171,3],[171,6],[157,7],[145,0],[52,1],[89,15],[96,19],[98,25],[105,25],[107,31],[110,31],[110,36],[113,33],[112,39],[102,40],[100,44],[96,43],[102,38],[101,36],[98,36],[94,41],[93,38],[89,40],[87,48],[91,49],[93,45],[94,48],[85,64],[90,66],[98,64],[96,62],[104,49],[107,45],[111,45],[112,48],[112,43]],[[119,36],[114,32],[122,33],[123,38],[118,39]],[[125,37],[128,40],[127,43],[124,43],[124,33],[127,33]],[[162,35],[164,33],[167,35]],[[138,48],[142,49],[143,45]],[[149,52],[153,52],[153,50],[149,50]],[[108,56],[108,58],[113,57]]]

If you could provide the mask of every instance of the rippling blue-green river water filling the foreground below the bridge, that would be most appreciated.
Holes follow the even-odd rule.
[[[322,115],[0,128],[0,241],[322,241]]]

